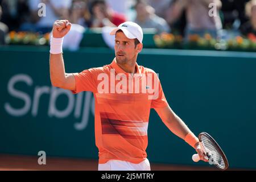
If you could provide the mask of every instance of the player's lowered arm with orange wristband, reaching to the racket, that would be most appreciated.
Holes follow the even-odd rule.
[[[162,119],[164,125],[168,127],[175,135],[185,140],[190,144],[200,156],[201,160],[207,162],[204,158],[204,153],[201,150],[199,140],[197,137],[189,130],[188,126],[172,111],[171,107],[168,105],[166,107],[155,108],[156,113]]]

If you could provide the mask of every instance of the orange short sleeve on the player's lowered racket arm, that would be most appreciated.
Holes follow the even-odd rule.
[[[155,73],[156,75],[156,73]],[[162,85],[160,83],[160,80],[157,77],[157,84],[158,84],[158,89],[155,91],[154,95],[157,97],[151,101],[151,108],[158,108],[158,107],[166,107],[168,105],[168,102],[166,100],[166,97],[164,96]]]

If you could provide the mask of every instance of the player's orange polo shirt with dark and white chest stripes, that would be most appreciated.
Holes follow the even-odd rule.
[[[74,73],[74,94],[90,91],[95,99],[95,138],[99,163],[110,159],[140,163],[147,157],[150,109],[168,105],[152,69],[135,65],[131,75],[115,59],[100,68]]]

